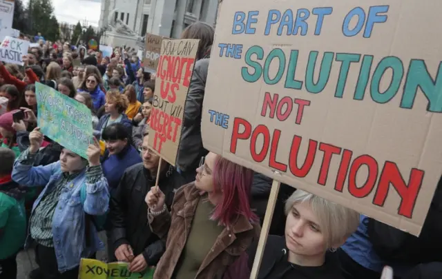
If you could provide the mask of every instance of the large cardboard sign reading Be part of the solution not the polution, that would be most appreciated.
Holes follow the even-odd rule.
[[[224,0],[204,147],[419,235],[442,171],[441,9]]]

